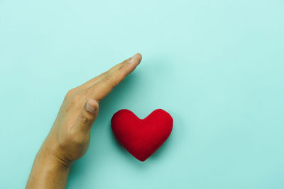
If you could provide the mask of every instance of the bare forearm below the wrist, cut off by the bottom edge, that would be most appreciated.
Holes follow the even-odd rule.
[[[66,188],[70,166],[40,149],[35,156],[26,188]]]

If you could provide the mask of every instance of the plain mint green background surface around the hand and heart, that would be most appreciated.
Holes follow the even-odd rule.
[[[284,1],[0,0],[0,188],[23,188],[65,93],[141,52],[67,188],[284,188]],[[122,108],[174,119],[146,162]]]

